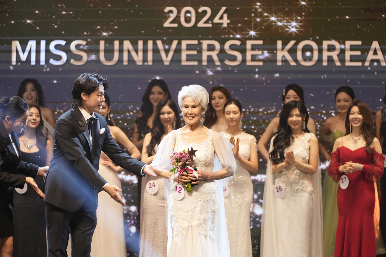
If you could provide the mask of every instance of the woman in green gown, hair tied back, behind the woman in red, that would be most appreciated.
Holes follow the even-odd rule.
[[[354,90],[349,86],[341,86],[335,92],[336,107],[338,114],[328,118],[320,131],[320,139],[325,140],[332,146],[339,137],[346,134],[345,120],[347,110],[355,101]],[[319,142],[319,150],[330,160],[327,149]],[[338,225],[337,191],[339,183],[335,183],[332,177],[325,176],[323,180],[323,243],[324,256],[333,257],[335,249],[335,234]]]

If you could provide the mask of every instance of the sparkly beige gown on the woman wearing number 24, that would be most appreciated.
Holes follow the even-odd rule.
[[[157,150],[158,147],[154,147],[154,152]],[[146,191],[146,184],[150,181],[158,183],[158,191],[155,194],[149,194]],[[166,215],[164,178],[151,177],[146,174],[142,178],[141,195],[139,257],[166,257],[168,255],[168,231],[166,219],[163,218]],[[160,219],[159,216],[162,218]]]

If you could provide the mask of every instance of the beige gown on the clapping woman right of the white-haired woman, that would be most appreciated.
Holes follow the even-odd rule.
[[[230,134],[221,132],[228,140]],[[239,155],[249,160],[251,145],[257,150],[256,138],[253,135],[241,132],[236,138],[239,142]],[[252,257],[251,222],[249,220],[253,198],[253,184],[251,174],[239,161],[237,169],[230,180],[229,194],[224,198],[225,215],[229,237],[230,256]]]

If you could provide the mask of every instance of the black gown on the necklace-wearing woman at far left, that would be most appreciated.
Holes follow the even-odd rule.
[[[21,152],[21,160],[46,166],[47,154],[41,150],[34,153]],[[43,190],[44,178],[34,178]],[[47,256],[46,212],[43,199],[27,184],[27,191],[19,194],[14,189],[14,257]]]

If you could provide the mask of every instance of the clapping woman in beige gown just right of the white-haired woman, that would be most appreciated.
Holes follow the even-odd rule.
[[[227,101],[224,117],[228,128],[224,135],[235,146],[232,150],[237,168],[228,184],[228,196],[224,197],[225,215],[231,257],[252,257],[250,210],[253,184],[249,171],[259,168],[256,138],[241,130],[242,106],[237,100]]]

